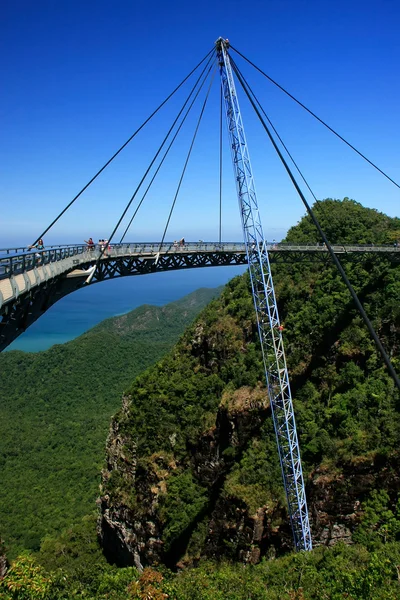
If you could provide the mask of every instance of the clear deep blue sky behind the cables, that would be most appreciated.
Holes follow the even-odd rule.
[[[220,35],[399,181],[399,18],[396,0],[4,0],[0,247],[30,243]],[[399,216],[400,190],[242,66],[317,197],[349,196]],[[169,238],[218,235],[218,84]],[[188,89],[81,197],[47,244],[108,237]],[[264,230],[278,239],[304,211],[240,98]],[[194,124],[182,132],[130,240],[160,238]],[[227,145],[224,171],[223,237],[240,239]]]

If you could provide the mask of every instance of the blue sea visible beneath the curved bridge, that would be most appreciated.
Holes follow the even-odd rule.
[[[244,273],[246,267],[207,267],[111,279],[90,285],[52,306],[7,350],[39,352],[82,335],[104,319],[142,304],[162,306],[201,287],[214,288]]]

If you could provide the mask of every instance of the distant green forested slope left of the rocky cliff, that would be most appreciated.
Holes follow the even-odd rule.
[[[124,388],[217,293],[141,306],[46,352],[0,355],[0,533],[9,557],[93,510]]]

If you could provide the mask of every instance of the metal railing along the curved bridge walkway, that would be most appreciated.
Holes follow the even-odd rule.
[[[64,246],[52,246],[44,250],[35,248],[6,248],[0,250],[0,279],[19,275],[30,271],[36,267],[47,265],[49,263],[59,262],[66,258],[78,256],[77,262],[93,262],[99,258],[102,249],[104,253],[102,258],[117,258],[119,256],[132,255],[151,255],[173,254],[180,252],[246,252],[244,243],[241,242],[167,242],[160,246],[155,242],[128,242],[123,244],[111,244],[104,247],[95,244],[92,247],[86,244],[66,244]],[[267,243],[269,252],[302,252],[302,253],[322,253],[327,252],[323,244],[286,244],[286,243]],[[341,245],[336,244],[333,250],[337,254],[347,253],[393,253],[400,254],[400,247],[397,246],[373,246],[366,245]]]

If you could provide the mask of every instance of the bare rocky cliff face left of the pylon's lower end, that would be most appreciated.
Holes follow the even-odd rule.
[[[123,411],[128,415],[132,399],[125,397]],[[183,564],[201,553],[210,557],[228,555],[243,562],[258,562],[269,546],[290,548],[288,527],[273,523],[284,517],[282,506],[260,506],[250,513],[240,498],[223,493],[223,484],[250,438],[259,433],[262,422],[270,418],[264,388],[241,388],[225,394],[216,423],[190,448],[190,469],[208,492],[208,503],[201,515],[205,525],[197,555],[185,556],[196,523],[183,531],[173,547],[165,551],[162,503],[168,480],[180,465],[168,453],[155,453],[145,462],[136,452],[127,451],[127,441],[114,421],[107,441],[107,468],[103,471],[103,490],[112,487],[113,477],[122,478],[131,497],[119,495],[112,500],[105,493],[99,500],[99,536],[106,556],[119,565],[142,568],[146,564],[167,562]],[[226,452],[232,449],[233,452]],[[111,500],[111,501],[110,501]],[[275,550],[274,550],[275,551]]]

